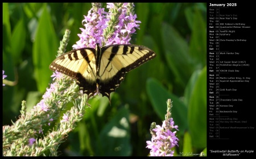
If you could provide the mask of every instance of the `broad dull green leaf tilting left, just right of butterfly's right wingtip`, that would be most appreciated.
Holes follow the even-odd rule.
[[[188,55],[188,44],[172,26],[164,23],[162,37],[167,64],[175,74],[175,80],[183,88],[187,84],[192,72],[192,61]]]

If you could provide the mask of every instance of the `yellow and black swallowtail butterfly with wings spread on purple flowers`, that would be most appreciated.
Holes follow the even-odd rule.
[[[80,48],[57,57],[49,69],[76,78],[88,97],[101,93],[110,99],[110,93],[119,87],[125,74],[154,58],[147,47],[117,44],[96,48]]]

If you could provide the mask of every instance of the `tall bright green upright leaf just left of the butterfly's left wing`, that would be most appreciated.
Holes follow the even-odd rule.
[[[46,87],[51,81],[52,71],[49,70],[49,65],[56,57],[57,47],[57,38],[51,16],[47,11],[46,5],[44,5],[33,45],[35,80],[41,93],[46,91]]]

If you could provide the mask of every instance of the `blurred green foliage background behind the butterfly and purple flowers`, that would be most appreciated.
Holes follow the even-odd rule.
[[[18,82],[3,87],[4,125],[18,118],[22,100],[30,110],[42,99],[64,31],[71,30],[70,51],[90,8],[90,3],[3,3],[3,70],[6,80]],[[127,73],[111,105],[106,97],[90,99],[84,119],[60,145],[60,156],[147,156],[150,124],[162,125],[168,98],[179,126],[175,155],[206,149],[206,4],[135,3],[135,14],[142,23],[131,44],[151,48],[156,58]]]

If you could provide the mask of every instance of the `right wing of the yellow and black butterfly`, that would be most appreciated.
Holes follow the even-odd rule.
[[[125,74],[154,58],[155,52],[141,45],[108,45],[101,49],[102,57],[98,76],[99,92],[110,98],[110,93],[119,87]]]

